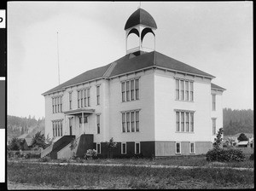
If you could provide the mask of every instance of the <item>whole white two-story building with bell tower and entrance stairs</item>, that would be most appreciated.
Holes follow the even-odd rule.
[[[126,54],[46,91],[45,135],[55,137],[41,157],[173,156],[207,153],[223,127],[224,88],[207,72],[155,51],[154,18],[137,9],[125,24]],[[137,45],[128,47],[130,37]],[[148,38],[145,38],[148,37]],[[153,46],[146,47],[145,39]],[[75,139],[77,147],[71,150]]]

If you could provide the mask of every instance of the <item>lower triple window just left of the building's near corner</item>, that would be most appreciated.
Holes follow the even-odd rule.
[[[129,111],[122,113],[122,131],[139,131],[139,111]]]

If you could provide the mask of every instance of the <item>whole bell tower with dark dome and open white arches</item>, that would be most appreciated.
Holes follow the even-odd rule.
[[[125,24],[125,51],[126,55],[137,52],[151,52],[155,50],[155,30],[157,29],[156,23],[154,18],[148,14],[147,11],[144,9],[137,9],[129,19],[126,21]],[[143,39],[145,38],[146,34],[151,32],[154,35],[154,48],[147,48],[143,46]],[[136,47],[132,47],[128,49],[127,41],[129,35],[132,33],[137,35],[138,45]]]

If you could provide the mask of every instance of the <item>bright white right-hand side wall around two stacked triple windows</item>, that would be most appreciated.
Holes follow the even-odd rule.
[[[193,79],[194,101],[175,101],[175,77]],[[174,142],[210,142],[210,79],[194,78],[174,72],[155,70],[154,73],[154,114],[155,140]],[[195,111],[194,133],[176,132],[175,109]]]

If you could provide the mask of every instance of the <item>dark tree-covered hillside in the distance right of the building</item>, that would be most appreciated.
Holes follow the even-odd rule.
[[[240,133],[253,133],[253,110],[232,110],[224,108],[223,123],[224,136],[234,136]]]

